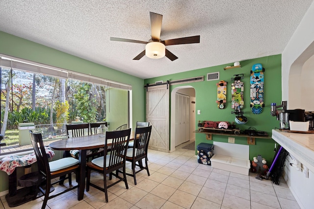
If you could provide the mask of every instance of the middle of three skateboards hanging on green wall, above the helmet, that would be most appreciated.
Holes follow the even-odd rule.
[[[240,114],[241,109],[244,107],[244,84],[241,81],[243,76],[243,74],[238,74],[234,75],[234,77],[232,78],[234,82],[231,84],[231,108],[235,110],[235,114]]]

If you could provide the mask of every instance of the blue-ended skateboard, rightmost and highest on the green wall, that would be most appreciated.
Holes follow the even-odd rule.
[[[264,107],[264,72],[262,64],[252,66],[250,85],[251,85],[251,109],[253,114],[261,114]]]

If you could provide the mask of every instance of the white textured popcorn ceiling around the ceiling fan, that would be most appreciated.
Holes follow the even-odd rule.
[[[0,0],[0,30],[140,78],[283,52],[313,0]],[[149,12],[163,15],[160,39],[179,59],[132,60],[148,41]]]

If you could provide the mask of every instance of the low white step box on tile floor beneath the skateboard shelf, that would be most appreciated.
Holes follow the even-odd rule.
[[[250,160],[214,154],[210,161],[213,168],[249,175]]]

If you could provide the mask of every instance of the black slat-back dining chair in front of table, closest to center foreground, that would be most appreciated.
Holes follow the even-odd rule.
[[[86,163],[86,191],[89,191],[89,186],[93,186],[103,192],[105,192],[105,201],[108,202],[107,188],[118,184],[121,181],[124,181],[126,188],[129,189],[127,176],[126,176],[126,154],[127,147],[129,144],[131,135],[131,129],[122,130],[122,131],[108,131],[105,136],[105,147],[110,144],[110,152],[107,149],[104,149],[104,156],[96,158],[91,162]],[[113,173],[114,171],[122,168],[123,177],[119,176],[119,173]],[[90,181],[91,171],[97,171],[104,175],[104,188],[93,184]],[[118,181],[107,185],[106,174],[109,174],[109,180],[112,180],[112,175],[115,176]]]

